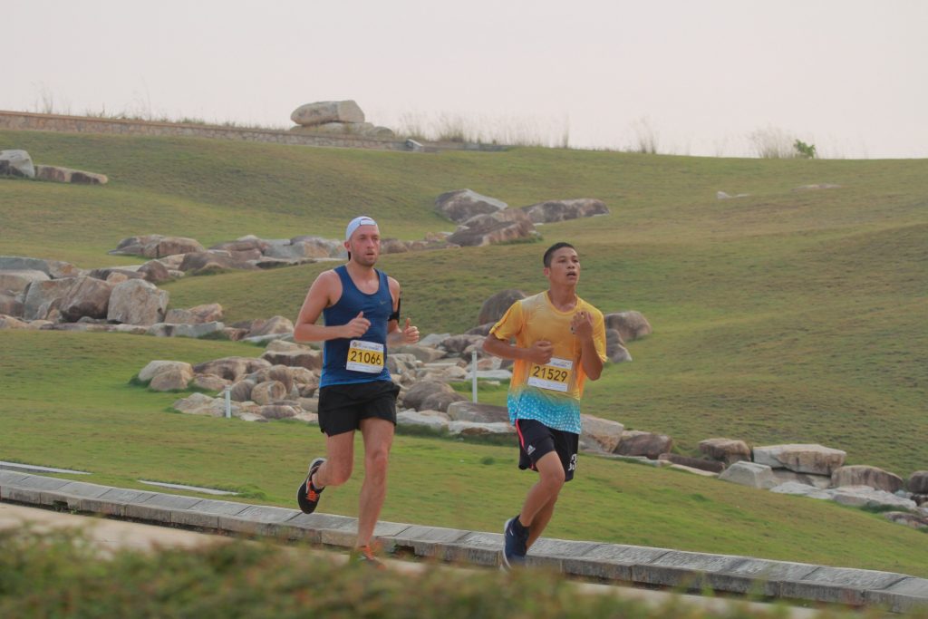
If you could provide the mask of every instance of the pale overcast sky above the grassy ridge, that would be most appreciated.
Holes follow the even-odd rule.
[[[0,41],[0,110],[928,157],[926,0],[17,0]]]

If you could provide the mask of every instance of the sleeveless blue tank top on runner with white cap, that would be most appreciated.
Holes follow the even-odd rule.
[[[335,268],[335,272],[342,280],[342,296],[338,302],[322,310],[322,316],[327,327],[347,325],[358,312],[364,312],[364,317],[370,321],[370,329],[359,338],[337,338],[327,340],[322,353],[322,378],[319,386],[347,384],[353,382],[373,382],[374,380],[391,380],[387,369],[387,321],[393,314],[393,296],[390,294],[390,283],[382,271],[374,269],[380,279],[380,286],[373,294],[367,294],[357,289],[354,281],[348,275],[348,269],[342,264]],[[351,346],[352,341],[356,346]],[[382,351],[383,368],[380,372],[365,372],[348,369],[349,354],[360,362],[368,362],[370,351],[375,351],[380,345]],[[355,366],[357,367],[357,366]]]

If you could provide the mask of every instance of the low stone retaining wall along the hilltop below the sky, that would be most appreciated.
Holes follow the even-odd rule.
[[[88,116],[63,116],[60,114],[36,114],[24,111],[0,110],[0,129],[14,131],[55,131],[71,134],[110,135],[179,135],[183,137],[207,137],[245,142],[273,142],[299,146],[338,148],[377,148],[380,150],[415,149],[405,139],[382,139],[361,135],[296,134],[272,129],[245,129],[213,124],[159,123]],[[427,150],[502,150],[496,145],[459,144],[454,142],[427,143]]]

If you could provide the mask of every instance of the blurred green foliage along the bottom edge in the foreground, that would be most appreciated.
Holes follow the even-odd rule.
[[[380,617],[473,619],[748,619],[783,617],[734,604],[702,611],[672,600],[646,607],[608,594],[583,594],[555,574],[449,570],[419,574],[337,565],[303,548],[231,541],[154,553],[120,550],[108,558],[74,533],[0,532],[0,616],[4,617]],[[872,613],[823,611],[831,617]],[[928,617],[928,613],[912,613]]]

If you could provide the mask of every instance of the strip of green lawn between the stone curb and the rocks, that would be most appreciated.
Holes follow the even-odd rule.
[[[254,346],[48,331],[0,331],[0,345],[7,460],[90,471],[81,479],[97,484],[240,490],[241,500],[290,507],[324,447],[316,426],[169,413],[182,393],[130,384],[150,359],[260,354]],[[533,480],[515,456],[514,445],[400,434],[382,519],[496,531]],[[327,494],[326,512],[354,515],[360,481]],[[546,535],[928,575],[925,536],[878,514],[589,456]]]

